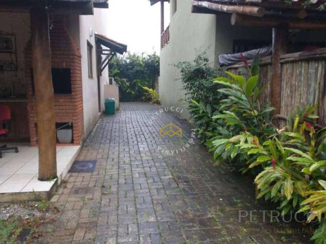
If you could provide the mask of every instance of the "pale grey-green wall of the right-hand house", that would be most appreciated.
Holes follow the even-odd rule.
[[[184,98],[180,74],[174,65],[193,60],[198,49],[206,50],[214,63],[216,17],[191,13],[192,0],[177,0],[177,12],[174,14],[173,4],[170,6],[170,43],[160,52],[159,97],[163,106],[183,108],[182,116],[188,118],[187,106],[180,101]]]

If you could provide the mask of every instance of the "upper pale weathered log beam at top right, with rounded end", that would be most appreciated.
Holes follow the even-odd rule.
[[[215,10],[219,12],[237,13],[237,14],[251,15],[257,17],[262,17],[266,13],[266,10],[262,7],[249,6],[249,5],[227,5],[227,4],[216,4],[211,2],[202,2],[202,1],[193,0],[193,6]]]

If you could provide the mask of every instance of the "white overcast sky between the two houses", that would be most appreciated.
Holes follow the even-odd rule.
[[[130,52],[160,50],[160,4],[148,0],[110,0],[108,37],[128,45]],[[169,3],[165,3],[165,26],[170,22]]]

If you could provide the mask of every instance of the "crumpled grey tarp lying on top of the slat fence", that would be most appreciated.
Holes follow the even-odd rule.
[[[220,54],[219,63],[220,65],[234,65],[243,60],[243,57],[246,59],[253,59],[255,56],[263,57],[271,54],[272,47],[262,47],[246,52],[232,53],[232,54]],[[241,55],[242,54],[242,55]]]

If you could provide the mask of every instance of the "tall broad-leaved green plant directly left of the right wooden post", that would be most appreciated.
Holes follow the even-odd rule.
[[[269,121],[270,113],[274,108],[259,103],[262,88],[259,88],[258,75],[246,79],[244,76],[230,72],[226,72],[226,74],[230,78],[219,77],[214,79],[214,83],[224,85],[227,88],[218,90],[226,97],[219,106],[223,112],[214,115],[212,118],[221,119],[232,134],[229,133],[227,138],[224,137],[226,133],[223,133],[222,138],[221,134],[218,134],[206,143],[210,147],[213,146],[216,161],[221,159],[232,161],[241,153],[242,147],[239,146],[239,143],[242,144],[245,141],[255,143],[276,133],[276,129]],[[232,137],[230,137],[231,135]],[[255,135],[255,137],[251,135]],[[241,167],[242,172],[248,171],[248,167],[245,167],[248,160],[246,154],[242,154],[240,159],[236,158],[235,162],[244,166]]]

